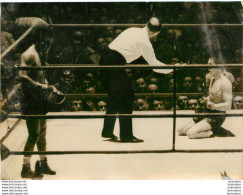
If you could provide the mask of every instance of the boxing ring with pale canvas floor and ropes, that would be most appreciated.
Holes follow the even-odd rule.
[[[202,25],[242,27],[242,24],[164,24],[162,26]],[[58,28],[106,26],[141,27],[144,25],[52,24],[50,26]],[[29,33],[29,31],[30,29],[27,32]],[[22,39],[28,36],[27,32],[24,36],[22,36]],[[11,47],[12,46],[10,46],[10,48]],[[1,58],[3,58],[4,55],[1,55]],[[222,64],[221,66],[242,67],[243,64]],[[51,64],[49,66],[42,67],[15,67],[15,69],[35,69],[49,71],[65,68],[72,70],[104,70],[128,68],[173,69],[173,77],[174,80],[176,80],[178,76],[177,70],[179,69],[208,67],[209,65],[205,64],[190,64],[179,66],[168,65],[166,67],[148,65],[97,66],[87,64]],[[210,67],[220,68],[218,65],[210,65]],[[21,115],[19,113],[10,113],[7,115],[7,117],[8,123],[11,123],[12,128],[6,130],[5,132],[1,131],[1,144],[4,141],[4,144],[6,144],[6,146],[8,146],[10,149],[8,152],[9,157],[2,161],[2,179],[20,179],[20,165],[14,168],[17,169],[14,172],[8,171],[10,170],[9,166],[14,166],[16,164],[14,163],[15,161],[18,162],[17,164],[21,164],[21,157],[24,154],[33,154],[33,159],[36,158],[36,155],[39,154],[50,156],[48,157],[48,159],[50,159],[50,164],[55,164],[57,173],[59,172],[62,174],[57,176],[45,175],[44,179],[220,179],[219,175],[210,175],[210,171],[217,172],[219,174],[220,171],[224,171],[225,169],[231,170],[232,176],[235,176],[237,179],[242,179],[243,125],[241,124],[243,111],[231,110],[226,114],[195,114],[194,111],[176,110],[176,97],[178,95],[179,93],[177,93],[175,82],[173,93],[165,94],[165,96],[173,97],[173,111],[135,111],[133,114],[119,115],[105,115],[104,112],[84,111],[75,113],[48,113],[47,115]],[[67,96],[72,96],[72,94],[67,94]],[[178,136],[176,133],[176,127],[189,120],[192,120],[192,117],[196,116],[226,116],[227,118],[223,124],[223,127],[230,129],[236,136],[196,140],[190,140],[185,136]],[[46,152],[23,152],[27,131],[25,123],[24,121],[21,121],[21,119],[25,119],[27,117],[48,119]],[[100,134],[102,130],[103,119],[113,117],[132,117],[134,134],[138,137],[142,137],[145,142],[134,144],[115,143],[102,140]],[[119,129],[117,123],[115,126],[115,134],[118,134]],[[5,126],[8,126],[9,124],[1,124],[1,129],[4,129]],[[232,127],[232,124],[237,125]],[[10,133],[12,138],[8,137]],[[10,147],[10,145],[13,145],[13,147]],[[68,156],[67,160],[66,155]],[[61,162],[61,158],[65,161],[65,163]],[[166,160],[166,158],[168,159]],[[232,165],[232,161],[234,162],[234,165]],[[114,163],[113,165],[112,162]],[[106,165],[106,163],[108,163],[108,165]],[[210,166],[209,163],[212,163],[213,166]],[[64,167],[61,167],[61,165]],[[66,167],[66,165],[69,166]],[[121,167],[118,168],[117,165],[120,165]],[[68,174],[68,167],[72,166],[75,166],[75,170],[77,166],[79,171],[73,170],[72,174]],[[111,170],[109,170],[108,167],[109,169],[111,168]],[[204,168],[207,170],[205,171]],[[217,170],[213,170],[215,168]],[[90,173],[91,169],[98,171],[98,173],[92,173],[90,176],[87,175]],[[141,169],[144,170],[144,173],[141,173]],[[160,171],[158,171],[158,169]],[[82,171],[85,170],[87,172],[83,173]],[[106,171],[108,175],[104,176]],[[176,171],[178,171],[178,173]],[[75,172],[77,174],[75,174]]]

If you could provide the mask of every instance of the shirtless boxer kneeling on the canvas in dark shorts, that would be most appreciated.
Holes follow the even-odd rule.
[[[216,65],[216,58],[210,58],[209,65]],[[209,69],[213,78],[209,85],[208,97],[200,100],[199,113],[225,113],[231,109],[232,84],[222,74],[222,68]],[[230,131],[221,128],[225,117],[194,117],[193,121],[178,129],[179,135],[190,139],[208,138],[214,135],[234,136]],[[222,131],[222,132],[221,132]]]

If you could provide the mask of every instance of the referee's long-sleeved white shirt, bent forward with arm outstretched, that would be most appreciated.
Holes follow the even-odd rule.
[[[127,63],[131,63],[140,56],[143,56],[149,65],[166,66],[164,63],[156,59],[153,46],[149,40],[148,32],[145,27],[128,28],[110,43],[109,48],[122,54]],[[173,70],[153,69],[153,71],[167,74]]]

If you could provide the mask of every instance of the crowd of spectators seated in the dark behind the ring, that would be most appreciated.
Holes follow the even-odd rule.
[[[178,23],[240,23],[236,10],[240,2],[183,2],[183,3],[3,3],[1,20],[1,52],[11,45],[26,29],[16,29],[13,21],[18,17],[40,17],[53,24],[145,24],[156,16],[162,24]],[[222,13],[224,17],[222,17]],[[48,55],[49,64],[98,64],[108,44],[124,27],[56,28]],[[206,64],[209,57],[219,56],[223,63],[242,63],[242,29],[229,27],[164,27],[154,45],[156,57],[166,64]],[[11,52],[2,65],[18,65],[21,53]],[[145,64],[141,58],[133,64]],[[126,69],[136,93],[134,110],[171,110],[174,84],[179,93],[201,93],[208,88],[210,75],[207,69],[184,69],[173,74],[161,75],[152,70]],[[224,74],[233,84],[234,92],[242,92],[242,69],[225,69]],[[1,96],[14,86],[15,71],[1,72]],[[100,82],[102,75],[96,70],[48,71],[47,80],[64,94],[85,94],[69,98],[65,105],[54,110],[104,111],[106,97]],[[11,82],[10,82],[11,81]],[[90,96],[89,96],[90,94]],[[140,95],[139,95],[140,94]],[[141,95],[142,94],[142,95]],[[145,94],[145,95],[144,95]],[[155,96],[146,94],[155,94]],[[161,94],[158,96],[158,94]],[[189,98],[190,97],[190,98]],[[199,95],[178,96],[177,109],[195,109]],[[242,108],[242,97],[236,96],[233,108]],[[13,107],[14,105],[14,107]],[[12,107],[11,107],[12,106]],[[9,105],[18,111],[18,98]]]

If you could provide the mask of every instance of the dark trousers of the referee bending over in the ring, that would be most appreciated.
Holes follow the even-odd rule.
[[[125,65],[125,58],[115,50],[108,50],[102,56],[100,65]],[[134,91],[125,69],[101,70],[101,81],[108,93],[106,114],[132,114]],[[102,134],[111,135],[116,119],[105,118]],[[132,118],[120,118],[120,139],[133,137]]]

